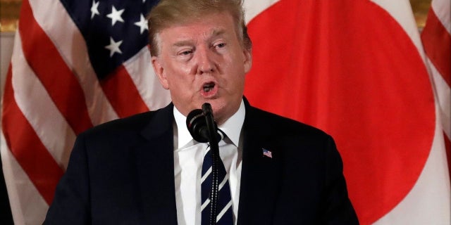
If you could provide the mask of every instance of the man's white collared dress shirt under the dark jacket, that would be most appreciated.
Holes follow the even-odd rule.
[[[207,143],[192,139],[186,127],[186,117],[174,107],[174,176],[177,220],[179,225],[201,224],[201,174]],[[233,202],[233,220],[237,224],[238,200],[242,162],[240,133],[245,121],[245,104],[219,129],[227,137],[218,143],[219,155],[229,175],[230,194]]]

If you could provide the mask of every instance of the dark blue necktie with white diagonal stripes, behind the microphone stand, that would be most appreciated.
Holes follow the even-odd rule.
[[[202,225],[209,225],[211,204],[210,193],[212,186],[213,175],[211,173],[211,165],[213,159],[211,157],[211,150],[207,147],[207,153],[204,156],[204,162],[202,164],[202,179],[201,179],[201,191],[202,191]],[[230,186],[228,184],[228,174],[226,168],[223,165],[222,160],[218,163],[218,200],[216,206],[216,224],[231,225],[233,224],[233,211],[232,211],[232,198],[230,195]]]

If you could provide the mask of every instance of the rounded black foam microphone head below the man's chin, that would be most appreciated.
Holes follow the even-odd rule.
[[[206,120],[201,109],[192,110],[186,117],[186,126],[192,138],[198,142],[206,143],[208,139],[208,129]]]

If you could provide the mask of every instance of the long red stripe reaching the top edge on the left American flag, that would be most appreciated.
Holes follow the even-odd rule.
[[[30,68],[47,89],[49,96],[75,134],[92,127],[85,94],[78,80],[33,17],[30,4],[26,0],[23,1],[20,11],[19,33],[23,53]]]

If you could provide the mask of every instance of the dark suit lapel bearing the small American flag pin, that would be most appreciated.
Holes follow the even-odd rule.
[[[267,127],[246,103],[238,224],[271,224],[278,195],[279,167]],[[271,151],[271,157],[263,154]]]

